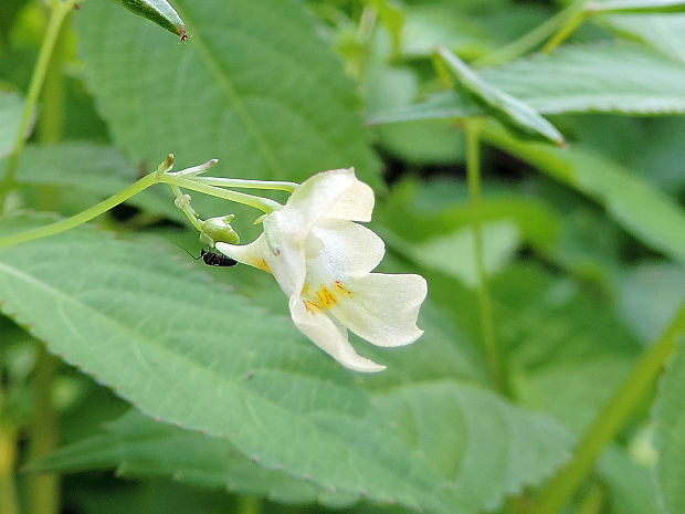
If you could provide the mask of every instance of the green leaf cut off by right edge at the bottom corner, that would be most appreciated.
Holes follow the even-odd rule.
[[[654,442],[658,451],[656,486],[670,514],[685,512],[685,347],[683,338],[668,365],[654,407]]]

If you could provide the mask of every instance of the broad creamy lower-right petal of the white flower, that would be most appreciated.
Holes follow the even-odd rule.
[[[428,293],[420,275],[371,273],[341,284],[348,295],[338,295],[330,314],[355,334],[378,346],[403,346],[417,340],[419,308]]]

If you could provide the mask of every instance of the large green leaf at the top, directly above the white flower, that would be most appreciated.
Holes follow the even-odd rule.
[[[354,83],[294,0],[178,0],[192,38],[166,38],[112,2],[84,3],[87,82],[135,161],[219,158],[233,177],[299,180],[355,166],[378,183]]]

